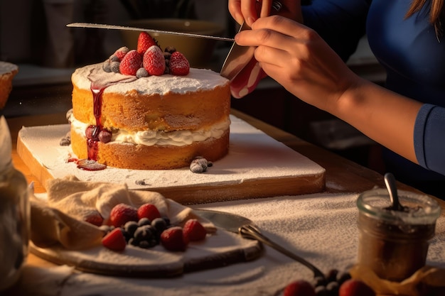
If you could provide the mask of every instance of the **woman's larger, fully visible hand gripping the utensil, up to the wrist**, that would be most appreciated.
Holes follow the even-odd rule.
[[[235,40],[257,47],[255,58],[267,75],[323,110],[360,80],[315,31],[289,18],[259,18]]]

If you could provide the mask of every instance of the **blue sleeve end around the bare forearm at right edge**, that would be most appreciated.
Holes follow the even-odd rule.
[[[424,104],[414,125],[414,150],[419,165],[445,175],[445,108]]]

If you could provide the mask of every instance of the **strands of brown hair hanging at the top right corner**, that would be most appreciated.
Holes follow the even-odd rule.
[[[412,16],[414,13],[420,11],[429,0],[413,0],[406,17]],[[443,24],[445,22],[445,6],[444,0],[431,0],[431,7],[429,9],[429,23],[434,26],[437,38],[440,38],[444,33]]]

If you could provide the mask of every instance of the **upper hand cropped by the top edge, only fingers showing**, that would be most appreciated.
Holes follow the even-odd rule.
[[[272,9],[274,0],[229,0],[229,11],[237,23],[246,21],[247,25],[252,23],[259,17],[280,15],[291,18],[295,21],[302,22],[301,3],[300,0],[279,0],[282,4],[280,11]]]

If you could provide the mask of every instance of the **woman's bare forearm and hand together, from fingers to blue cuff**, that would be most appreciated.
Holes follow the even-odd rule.
[[[271,16],[235,40],[256,46],[262,69],[296,97],[417,163],[414,124],[422,104],[355,75],[315,31]]]

